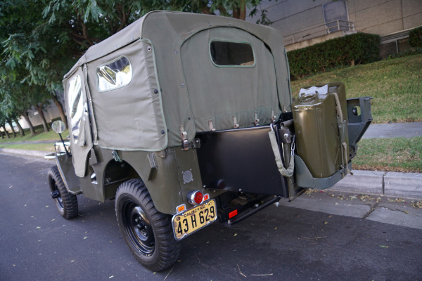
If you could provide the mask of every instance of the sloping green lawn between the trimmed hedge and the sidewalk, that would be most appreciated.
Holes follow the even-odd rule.
[[[422,54],[382,60],[292,81],[293,98],[300,88],[340,81],[347,98],[371,96],[373,123],[422,121]]]

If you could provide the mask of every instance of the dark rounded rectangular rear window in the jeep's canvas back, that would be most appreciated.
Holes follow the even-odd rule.
[[[210,56],[212,63],[217,66],[255,66],[255,55],[249,43],[212,40]]]

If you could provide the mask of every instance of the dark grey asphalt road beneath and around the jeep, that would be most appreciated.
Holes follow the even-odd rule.
[[[0,155],[1,281],[422,280],[421,229],[293,207],[200,230],[174,267],[153,273],[124,244],[114,202],[79,195],[79,216],[59,216],[46,183],[53,164]]]

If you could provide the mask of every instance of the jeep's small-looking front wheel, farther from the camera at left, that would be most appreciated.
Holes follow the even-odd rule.
[[[77,197],[66,189],[57,166],[52,166],[49,169],[49,185],[51,196],[56,202],[60,215],[66,219],[75,218],[77,216]]]

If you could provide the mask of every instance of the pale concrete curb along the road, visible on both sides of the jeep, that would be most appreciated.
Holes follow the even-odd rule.
[[[44,159],[51,151],[0,148],[0,153]],[[327,190],[422,200],[422,174],[353,170],[353,175],[348,174]]]

